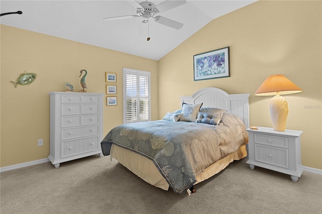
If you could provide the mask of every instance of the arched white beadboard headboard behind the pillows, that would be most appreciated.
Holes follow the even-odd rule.
[[[238,116],[244,121],[246,128],[250,127],[249,93],[228,94],[215,87],[202,88],[191,96],[181,96],[181,102],[196,104],[203,102],[204,108],[218,108]]]

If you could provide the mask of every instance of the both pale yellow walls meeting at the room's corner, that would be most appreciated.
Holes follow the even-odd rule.
[[[215,19],[158,62],[1,25],[1,167],[49,155],[50,91],[69,81],[105,93],[105,72],[118,75],[118,105],[104,107],[104,133],[122,123],[122,68],[151,72],[152,120],[181,108],[180,96],[202,87],[250,93],[250,123],[272,127],[271,97],[253,93],[268,75],[283,74],[303,89],[285,95],[287,129],[302,130],[302,164],[322,169],[321,1],[260,1]],[[193,81],[193,55],[230,47],[231,77]],[[31,85],[14,87],[20,73]],[[166,103],[166,104],[165,104]],[[44,139],[38,147],[37,140]]]

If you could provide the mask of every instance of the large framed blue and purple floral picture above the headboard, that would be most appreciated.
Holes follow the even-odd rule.
[[[194,81],[229,77],[229,47],[193,56]]]

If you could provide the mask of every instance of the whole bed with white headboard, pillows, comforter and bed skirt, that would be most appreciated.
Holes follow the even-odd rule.
[[[163,120],[113,128],[103,154],[151,185],[190,194],[194,184],[247,156],[248,97],[214,87],[181,96],[182,109]]]

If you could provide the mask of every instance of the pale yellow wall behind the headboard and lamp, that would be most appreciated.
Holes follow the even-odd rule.
[[[250,93],[251,126],[272,127],[272,97],[254,92],[267,76],[283,74],[303,90],[284,95],[286,129],[303,131],[302,164],[322,169],[321,7],[321,1],[260,1],[210,22],[159,60],[159,118],[181,108],[179,96],[219,87]],[[227,46],[231,77],[194,81],[193,55]]]

